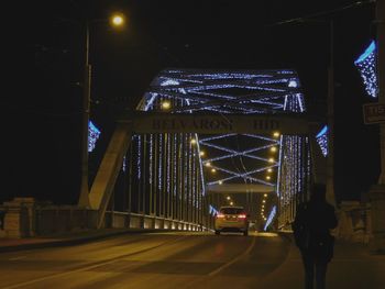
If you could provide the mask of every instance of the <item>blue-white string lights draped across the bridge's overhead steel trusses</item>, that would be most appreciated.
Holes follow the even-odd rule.
[[[238,95],[233,93],[233,90],[245,91]],[[249,90],[249,91],[248,91]],[[157,78],[152,82],[148,91],[145,93],[145,101],[139,108],[139,110],[155,110],[161,108],[162,100],[173,100],[173,111],[178,112],[189,112],[195,111],[207,111],[222,113],[226,118],[228,113],[275,113],[282,111],[288,111],[294,113],[301,113],[305,111],[304,95],[300,91],[300,84],[297,74],[294,70],[268,70],[268,71],[199,71],[194,69],[166,69],[160,74]],[[187,135],[187,134],[182,134]],[[193,136],[193,135],[191,135]],[[160,134],[160,138],[162,134]],[[231,137],[242,137],[248,138],[245,143],[251,143],[253,148],[249,149],[232,149],[227,147],[228,144],[233,144],[233,142],[228,142]],[[286,135],[278,134],[277,136],[268,137],[262,135],[252,134],[224,134],[209,136],[205,138],[198,138],[195,134],[196,145],[194,147],[189,146],[189,152],[185,149],[183,164],[185,164],[186,174],[182,176],[183,180],[180,186],[184,186],[185,191],[189,191],[188,200],[197,205],[198,193],[205,193],[205,182],[210,184],[222,184],[223,181],[235,181],[241,179],[242,182],[248,180],[250,182],[260,182],[266,186],[273,186],[276,189],[277,194],[284,196],[282,199],[285,203],[293,199],[296,193],[301,191],[304,187],[302,179],[306,174],[309,174],[308,163],[301,163],[301,154],[304,151],[301,137],[290,137]],[[138,138],[139,142],[143,140]],[[151,142],[152,138],[150,138]],[[188,143],[189,138],[185,138],[185,143]],[[169,158],[165,155],[169,149],[163,147],[163,142],[160,143],[158,149],[158,164],[160,165],[170,165]],[[212,154],[215,157],[210,159],[202,160],[200,155],[200,146],[208,149],[219,149],[219,154]],[[278,151],[277,158],[267,158],[265,153],[267,151]],[[143,146],[139,145],[139,151],[144,149]],[[150,149],[151,151],[151,149]],[[210,151],[207,151],[210,156]],[[260,155],[260,154],[264,155]],[[275,152],[273,152],[275,153]],[[308,152],[307,152],[308,153]],[[153,153],[150,153],[152,156]],[[139,167],[140,158],[139,156]],[[166,157],[166,158],[165,158]],[[233,171],[231,169],[222,167],[220,160],[239,157],[240,159],[248,158],[254,162],[255,167],[250,166],[244,167],[244,171]],[[194,158],[198,158],[199,163],[195,163],[191,166]],[[175,156],[174,156],[175,159]],[[186,162],[185,162],[186,160]],[[187,162],[188,160],[188,162]],[[255,162],[257,160],[257,162]],[[162,164],[166,162],[167,164]],[[270,163],[272,162],[272,163]],[[156,163],[155,163],[156,164]],[[176,164],[176,162],[175,162]],[[199,167],[198,167],[199,164]],[[205,179],[204,174],[209,173],[206,170],[204,173],[202,167],[207,166],[213,168],[218,171],[227,174],[221,179],[209,182]],[[261,180],[257,174],[263,178],[261,171],[272,173],[273,168],[278,167],[276,184],[267,182]],[[156,169],[155,169],[156,170]],[[170,170],[166,170],[170,171]],[[174,168],[174,175],[176,175]],[[196,171],[196,173],[194,173]],[[307,171],[306,174],[304,171]],[[162,176],[160,170],[160,184],[161,177],[163,181],[170,181],[169,176]],[[200,182],[198,180],[190,179],[195,178],[196,174],[200,175]],[[165,178],[166,177],[166,178]],[[207,175],[206,178],[210,176]],[[194,184],[194,188],[188,188],[188,184]],[[165,184],[168,188],[168,185]],[[196,188],[199,187],[198,193],[196,193]],[[161,187],[160,187],[161,188]],[[191,194],[193,193],[193,197]],[[190,199],[195,198],[195,199]],[[280,198],[278,198],[280,200]],[[210,207],[210,211],[215,208]],[[265,218],[265,216],[264,216]],[[272,216],[274,218],[274,216]],[[267,222],[266,222],[267,223]]]

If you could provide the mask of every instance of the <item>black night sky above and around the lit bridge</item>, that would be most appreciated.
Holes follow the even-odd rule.
[[[271,25],[334,11],[336,181],[339,199],[359,199],[380,174],[378,131],[364,125],[365,96],[354,59],[375,36],[374,4],[354,1],[33,1],[15,8],[3,57],[11,89],[3,97],[4,187],[0,201],[34,196],[75,203],[80,174],[84,22],[120,10],[124,31],[90,29],[92,120],[100,154],[122,107],[134,108],[164,68],[294,68],[308,108],[324,112],[330,34],[322,23]],[[9,35],[8,35],[9,34]],[[92,162],[96,162],[91,158]]]

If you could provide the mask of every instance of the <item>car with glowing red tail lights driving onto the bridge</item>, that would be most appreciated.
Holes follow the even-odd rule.
[[[221,207],[216,215],[216,235],[221,232],[240,232],[249,234],[249,214],[243,207]]]

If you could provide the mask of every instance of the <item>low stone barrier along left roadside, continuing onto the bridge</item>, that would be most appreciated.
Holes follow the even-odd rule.
[[[33,198],[15,198],[4,202],[3,230],[0,237],[29,237],[52,235],[73,231],[97,229],[99,211],[77,205],[53,205],[38,203]],[[1,226],[0,226],[1,227]],[[166,219],[143,213],[107,211],[102,227],[148,229],[148,230],[209,230],[201,224]]]

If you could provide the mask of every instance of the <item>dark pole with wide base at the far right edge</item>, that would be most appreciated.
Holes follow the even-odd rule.
[[[376,45],[378,103],[385,104],[385,0],[376,1]],[[372,204],[372,252],[385,252],[385,123],[380,124],[381,175],[378,184],[372,186],[370,199]]]

